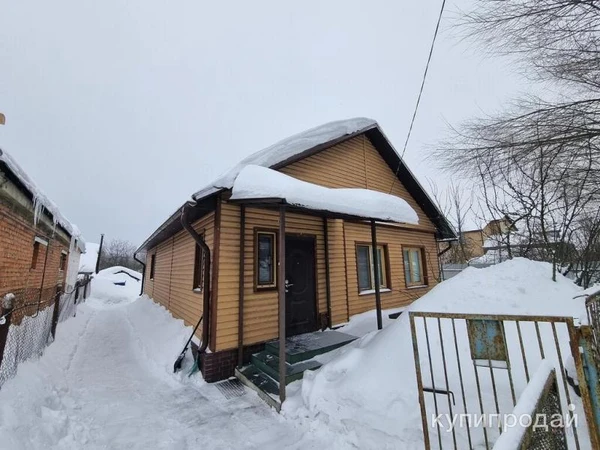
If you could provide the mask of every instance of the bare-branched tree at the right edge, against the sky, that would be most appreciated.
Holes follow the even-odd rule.
[[[600,4],[595,0],[479,0],[464,16],[468,36],[510,55],[561,97],[527,97],[455,131],[436,156],[479,181],[483,203],[518,231],[509,257],[575,264],[582,220],[600,199]]]

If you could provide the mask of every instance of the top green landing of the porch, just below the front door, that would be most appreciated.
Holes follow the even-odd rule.
[[[335,350],[355,339],[355,336],[334,330],[292,336],[285,340],[285,360],[296,364]],[[265,352],[278,356],[279,341],[267,342]]]

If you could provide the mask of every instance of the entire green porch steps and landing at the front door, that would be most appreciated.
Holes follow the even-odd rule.
[[[279,340],[267,342],[265,349],[254,353],[250,363],[236,369],[235,375],[242,383],[258,392],[270,406],[279,410],[280,382],[285,384],[300,380],[307,370],[316,370],[321,363],[315,359],[319,355],[336,350],[356,340],[355,336],[334,330],[299,334],[285,340],[285,361],[280,364]],[[285,367],[281,376],[280,368]]]

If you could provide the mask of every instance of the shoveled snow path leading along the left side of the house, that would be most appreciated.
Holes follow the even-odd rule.
[[[73,333],[79,339],[72,349],[53,361],[44,360],[44,355],[32,363],[50,365],[49,370],[42,367],[41,371],[64,375],[56,380],[56,386],[44,388],[45,398],[35,402],[28,398],[24,404],[18,401],[22,395],[37,394],[26,392],[28,380],[21,371],[4,386],[1,394],[7,399],[0,395],[0,402],[4,401],[0,448],[179,450],[343,444],[332,442],[326,430],[318,433],[323,439],[315,436],[314,430],[307,436],[305,430],[274,413],[253,392],[228,400],[214,385],[182,383],[158,373],[141,356],[140,336],[132,327],[128,309],[91,304],[96,306],[86,306],[72,319],[78,321],[79,328]],[[60,333],[48,350],[54,345],[66,346],[60,342]],[[11,395],[10,389],[22,392]],[[31,413],[18,411],[18,416],[24,415],[32,422],[30,426],[6,420],[8,408],[27,407]]]

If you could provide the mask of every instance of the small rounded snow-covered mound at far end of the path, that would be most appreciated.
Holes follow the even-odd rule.
[[[135,270],[121,266],[109,267],[94,275],[92,297],[99,297],[104,302],[113,304],[132,302],[140,294],[141,280],[142,274]]]

